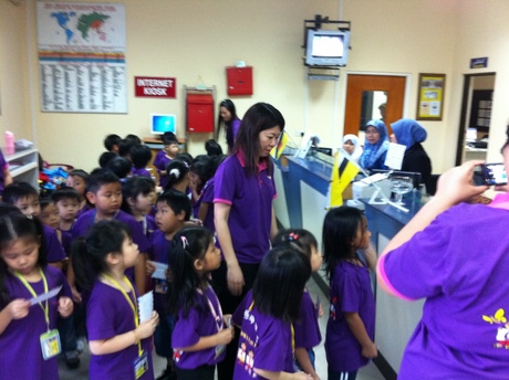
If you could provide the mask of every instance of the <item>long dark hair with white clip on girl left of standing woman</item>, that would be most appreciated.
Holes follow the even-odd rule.
[[[202,226],[185,228],[177,232],[172,242],[172,254],[168,266],[173,282],[168,288],[168,310],[176,315],[184,308],[184,317],[197,307],[197,289],[207,287],[206,277],[196,272],[195,261],[202,260],[210,244],[214,244],[212,233]],[[205,292],[204,292],[204,297]],[[207,303],[205,303],[207,305]],[[202,312],[207,313],[207,309]]]

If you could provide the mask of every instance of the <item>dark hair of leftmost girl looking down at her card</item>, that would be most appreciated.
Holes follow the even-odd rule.
[[[39,246],[38,265],[44,268],[48,265],[46,244],[44,230],[39,219],[27,218],[19,210],[2,207],[0,217],[0,251],[12,245],[15,241],[23,239],[28,242],[35,242]],[[0,258],[0,304],[7,305],[10,296],[6,286],[8,266]]]

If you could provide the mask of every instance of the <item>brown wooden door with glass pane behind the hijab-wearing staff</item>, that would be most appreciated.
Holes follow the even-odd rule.
[[[350,74],[346,83],[344,135],[359,135],[363,93],[370,91],[381,91],[387,95],[384,122],[391,135],[391,123],[403,117],[405,85],[405,76]]]

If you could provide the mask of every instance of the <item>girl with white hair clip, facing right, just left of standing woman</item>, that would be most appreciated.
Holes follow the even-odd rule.
[[[235,330],[208,282],[221,263],[214,235],[201,226],[185,228],[173,240],[168,310],[176,315],[172,335],[178,380],[214,380],[216,365]]]

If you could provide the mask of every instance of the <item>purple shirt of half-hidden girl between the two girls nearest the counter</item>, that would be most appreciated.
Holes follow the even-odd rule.
[[[307,350],[318,346],[322,340],[318,323],[318,310],[308,291],[302,296],[299,319],[293,324],[295,332],[295,347]]]

